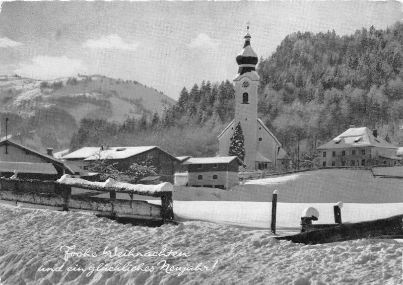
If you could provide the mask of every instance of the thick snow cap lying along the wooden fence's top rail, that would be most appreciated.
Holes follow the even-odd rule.
[[[116,188],[122,190],[128,190],[133,192],[143,193],[156,193],[156,192],[172,192],[173,186],[169,182],[163,182],[158,185],[143,185],[143,184],[130,184],[124,182],[114,181],[112,178],[108,178],[105,182],[88,181],[81,178],[72,178],[69,174],[64,174],[57,180],[61,184],[67,185],[86,185],[93,186],[95,188]],[[79,187],[79,186],[77,186]]]

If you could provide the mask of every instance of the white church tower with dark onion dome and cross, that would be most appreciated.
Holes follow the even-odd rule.
[[[245,147],[244,163],[248,169],[254,169],[256,157],[257,128],[257,87],[259,76],[255,71],[258,58],[250,45],[249,25],[245,35],[243,49],[236,57],[238,74],[235,84],[235,125],[241,123]]]

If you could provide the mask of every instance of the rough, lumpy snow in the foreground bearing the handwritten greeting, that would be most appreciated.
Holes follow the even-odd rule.
[[[402,244],[394,240],[303,245],[272,239],[269,231],[208,222],[135,227],[7,205],[0,205],[0,224],[5,285],[402,283]],[[113,256],[115,247],[126,255]],[[41,271],[47,268],[60,272]]]

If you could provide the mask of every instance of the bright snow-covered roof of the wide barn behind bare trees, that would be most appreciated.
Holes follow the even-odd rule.
[[[157,147],[113,147],[101,151],[101,148],[98,147],[85,147],[71,154],[65,155],[61,157],[61,159],[84,159],[84,161],[92,161],[98,159],[125,159],[150,151],[155,148]]]

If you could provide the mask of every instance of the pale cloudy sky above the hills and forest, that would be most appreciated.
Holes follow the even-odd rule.
[[[400,2],[4,2],[0,74],[40,80],[100,74],[178,99],[183,87],[232,80],[246,22],[258,56],[290,33],[385,29]]]

